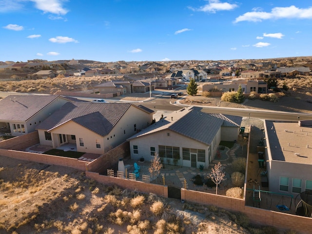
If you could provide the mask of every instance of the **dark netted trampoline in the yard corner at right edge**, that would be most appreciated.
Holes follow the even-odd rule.
[[[295,198],[300,197],[300,201],[296,205],[296,215],[312,218],[312,191],[305,191],[298,194]]]

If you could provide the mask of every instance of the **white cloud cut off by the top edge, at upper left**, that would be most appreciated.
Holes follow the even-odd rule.
[[[65,0],[31,0],[35,3],[35,7],[44,13],[52,13],[57,15],[66,15],[68,10],[63,7]]]

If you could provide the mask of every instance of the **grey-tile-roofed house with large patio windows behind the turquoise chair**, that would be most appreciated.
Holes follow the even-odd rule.
[[[129,137],[131,158],[151,161],[158,154],[168,164],[208,168],[220,141],[237,139],[241,121],[199,107],[183,108]]]

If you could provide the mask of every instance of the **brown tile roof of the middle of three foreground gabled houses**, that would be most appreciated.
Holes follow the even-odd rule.
[[[40,123],[37,129],[52,130],[72,120],[100,136],[106,136],[131,106],[131,103],[68,102]]]

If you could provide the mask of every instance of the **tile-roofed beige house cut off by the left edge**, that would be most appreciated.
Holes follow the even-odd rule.
[[[0,129],[12,136],[34,132],[39,123],[69,101],[57,95],[9,95],[0,100]]]

